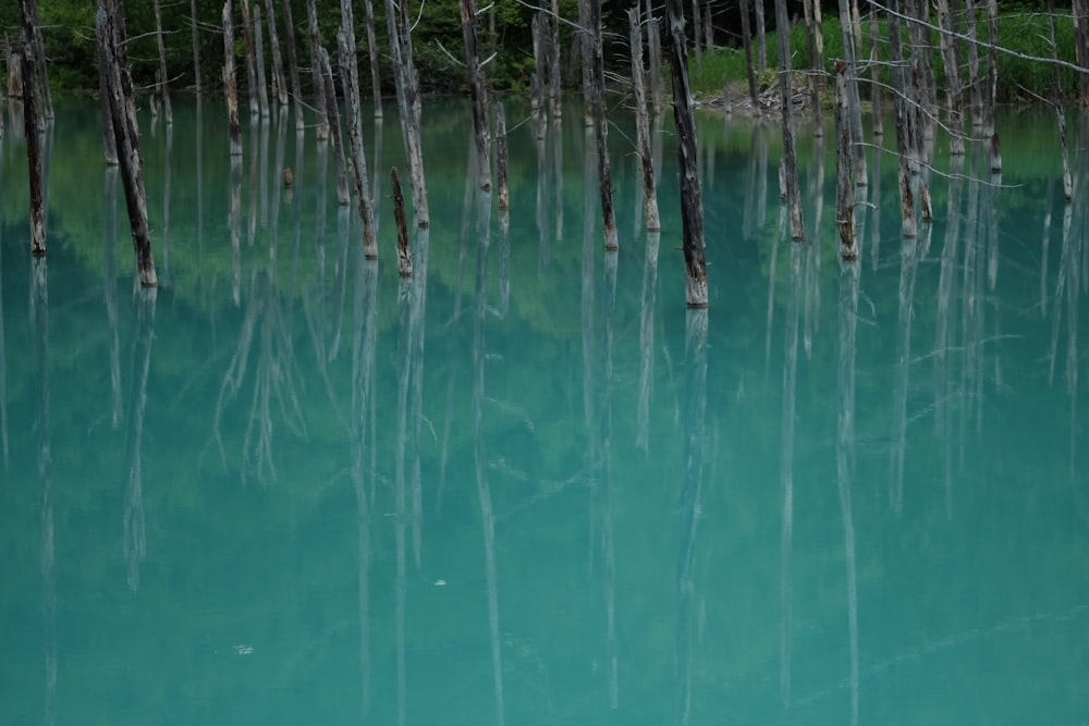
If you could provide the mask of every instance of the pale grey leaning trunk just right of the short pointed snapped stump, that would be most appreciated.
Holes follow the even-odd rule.
[[[427,186],[424,182],[424,152],[419,140],[419,90],[416,65],[412,59],[408,19],[404,15],[403,7],[399,8],[394,0],[386,0],[386,23],[390,34],[390,60],[393,61],[394,85],[397,89],[401,135],[404,137],[408,156],[408,181],[412,185],[416,225],[430,226]]]

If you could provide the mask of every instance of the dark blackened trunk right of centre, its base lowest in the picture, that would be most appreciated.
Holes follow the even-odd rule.
[[[681,224],[684,230],[685,303],[707,307],[707,261],[703,244],[703,198],[696,171],[696,127],[692,119],[688,87],[688,53],[685,49],[684,12],[681,0],[665,0],[670,24],[670,69],[673,75],[673,119],[677,128],[677,167],[681,176]]]

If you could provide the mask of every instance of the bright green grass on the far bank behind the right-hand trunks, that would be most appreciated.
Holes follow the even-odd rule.
[[[907,48],[906,24],[902,23],[902,34],[904,36],[905,49]],[[843,36],[840,32],[839,16],[825,17],[821,27],[824,39],[824,72],[831,73],[836,60],[843,58]],[[889,28],[888,23],[882,20],[878,23],[878,59],[879,62],[888,63],[889,59]],[[932,41],[934,47],[932,65],[934,69],[935,82],[939,88],[945,85],[945,63],[938,46],[938,33],[933,32]],[[862,23],[862,46],[857,52],[858,59],[862,61],[859,65],[859,75],[868,79],[870,70],[868,59],[870,57],[870,22],[864,19]],[[982,40],[987,38],[987,24],[978,23],[976,36]],[[758,90],[767,88],[775,83],[774,69],[779,65],[779,39],[774,33],[767,36],[768,49],[768,71],[758,74]],[[1070,63],[1075,62],[1074,56],[1074,22],[1069,15],[1055,16],[1055,44],[1059,47],[1059,58]],[[1036,58],[1051,58],[1051,44],[1048,30],[1048,16],[1043,13],[1017,12],[1007,13],[999,17],[999,46],[1016,51],[1025,56]],[[966,53],[958,47],[959,56]],[[752,40],[754,64],[756,64],[756,53],[759,49],[756,38]],[[979,47],[981,61],[986,59],[987,49]],[[791,54],[794,70],[808,70],[809,47],[806,39],[805,26],[795,24],[791,26]],[[968,70],[967,59],[960,60],[962,83],[967,85]],[[689,57],[688,72],[693,93],[697,98],[720,96],[723,88],[741,88],[741,93],[747,95],[748,79],[745,73],[745,50],[737,48],[718,48],[710,52],[705,52],[702,62],[696,63],[695,58]],[[1035,102],[1038,97],[1051,98],[1052,66],[1050,63],[1039,61],[1028,61],[1014,58],[1006,53],[999,53],[999,101],[1000,102]],[[885,64],[881,69],[882,83],[890,84],[891,76],[889,66]],[[1064,95],[1075,93],[1076,78],[1069,69],[1060,69],[1060,78]],[[865,91],[864,91],[865,93]]]

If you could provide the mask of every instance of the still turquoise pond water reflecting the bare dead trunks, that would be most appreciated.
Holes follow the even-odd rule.
[[[656,250],[617,119],[608,256],[576,107],[512,131],[504,218],[468,107],[429,101],[402,284],[391,110],[367,264],[311,130],[232,169],[220,103],[175,100],[142,119],[140,293],[97,111],[58,114],[42,264],[10,119],[0,158],[0,722],[1089,718],[1089,245],[1051,116],[1003,120],[1003,186],[975,149],[983,183],[933,175],[915,243],[873,157],[846,267],[830,149],[799,136],[796,245],[778,133],[701,119],[687,313],[669,125]]]

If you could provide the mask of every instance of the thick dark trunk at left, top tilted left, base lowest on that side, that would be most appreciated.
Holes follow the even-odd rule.
[[[140,285],[154,287],[158,284],[155,261],[151,258],[151,239],[147,225],[147,196],[144,192],[144,163],[139,155],[139,130],[135,115],[130,113],[132,81],[121,58],[125,42],[119,27],[117,0],[98,0],[96,28],[98,42],[106,50],[106,86],[110,97],[110,114],[113,120],[113,135],[118,145],[118,162],[121,181],[125,187],[125,207],[132,229],[133,248],[136,253],[136,273]],[[127,61],[125,61],[127,62]]]

